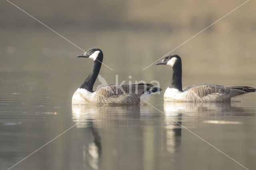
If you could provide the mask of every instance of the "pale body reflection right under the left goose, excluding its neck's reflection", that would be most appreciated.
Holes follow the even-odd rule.
[[[72,120],[80,122],[78,128],[86,128],[92,123],[94,127],[106,128],[127,126],[129,118],[140,119],[140,108],[143,105],[72,105]],[[130,120],[130,123],[132,123]]]

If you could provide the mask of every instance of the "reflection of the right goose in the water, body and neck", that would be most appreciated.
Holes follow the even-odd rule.
[[[182,126],[193,129],[198,128],[197,125],[202,122],[237,125],[241,122],[227,121],[224,116],[255,115],[255,109],[248,112],[248,109],[244,109],[243,104],[238,102],[164,102],[164,114],[165,135],[163,135],[163,140],[168,152],[176,153],[180,151],[181,147]],[[215,117],[216,115],[218,117]]]

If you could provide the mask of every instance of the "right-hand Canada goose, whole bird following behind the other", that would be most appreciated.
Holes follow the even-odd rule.
[[[168,55],[156,65],[170,65],[172,80],[164,92],[164,101],[223,102],[241,101],[245,93],[256,89],[246,86],[223,86],[215,84],[198,84],[182,90],[182,64],[178,55]]]

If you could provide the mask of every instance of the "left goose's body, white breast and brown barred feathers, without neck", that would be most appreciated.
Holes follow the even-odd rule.
[[[72,98],[72,104],[139,104],[142,99],[148,100],[152,93],[162,89],[151,84],[120,84],[100,85],[93,88],[93,92],[78,89]],[[81,101],[79,101],[81,99]]]

